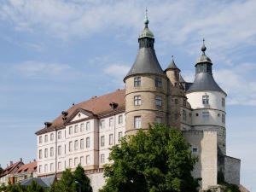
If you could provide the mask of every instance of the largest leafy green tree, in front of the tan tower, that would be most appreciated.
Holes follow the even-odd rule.
[[[166,125],[149,125],[113,146],[112,165],[105,166],[106,185],[101,192],[195,192],[192,177],[196,157],[181,131]]]

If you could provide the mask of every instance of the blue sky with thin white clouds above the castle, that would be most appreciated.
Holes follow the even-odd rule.
[[[124,88],[145,8],[163,69],[193,81],[202,39],[228,94],[227,154],[256,191],[256,1],[0,1],[0,164],[36,158],[35,132],[61,111]]]

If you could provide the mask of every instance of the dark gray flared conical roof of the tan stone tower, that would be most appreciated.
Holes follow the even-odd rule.
[[[137,74],[159,74],[166,75],[160,67],[153,48],[141,48],[137,53],[136,61],[131,67],[125,79]],[[125,81],[124,79],[124,81]]]

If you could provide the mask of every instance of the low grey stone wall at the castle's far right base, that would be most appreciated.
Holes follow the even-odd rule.
[[[224,156],[224,179],[227,183],[240,184],[241,160]]]

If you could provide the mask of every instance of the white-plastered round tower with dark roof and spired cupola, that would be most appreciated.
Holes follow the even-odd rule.
[[[203,42],[202,55],[195,64],[195,80],[186,96],[191,105],[192,126],[199,131],[217,131],[218,154],[226,154],[225,98],[227,94],[212,76],[212,61],[206,55]]]

